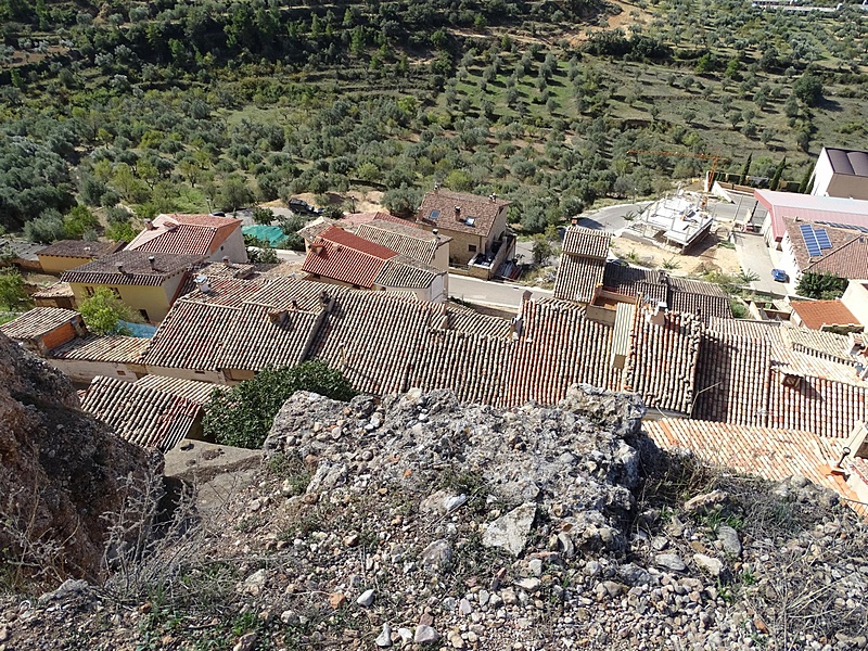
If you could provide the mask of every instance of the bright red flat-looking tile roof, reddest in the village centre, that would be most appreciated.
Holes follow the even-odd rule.
[[[394,251],[336,227],[322,231],[305,258],[302,270],[314,276],[370,289]]]

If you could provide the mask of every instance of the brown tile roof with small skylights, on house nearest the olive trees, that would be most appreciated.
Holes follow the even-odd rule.
[[[495,218],[500,208],[511,205],[510,202],[487,196],[437,190],[427,192],[417,212],[417,221],[442,231],[472,233],[487,238],[494,228]],[[459,221],[456,218],[456,206],[461,208]],[[433,215],[437,215],[432,218]],[[467,219],[473,218],[471,226]]]

